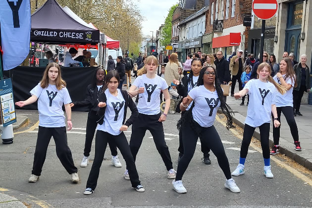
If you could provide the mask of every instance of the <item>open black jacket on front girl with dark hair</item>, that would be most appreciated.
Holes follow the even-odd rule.
[[[137,106],[134,104],[132,98],[129,96],[127,91],[121,90],[121,94],[122,94],[123,99],[125,99],[125,105],[124,105],[124,109],[125,110],[124,110],[124,113],[123,113],[123,121],[122,121],[122,123],[129,127],[131,124],[133,124],[134,119],[139,116],[139,111],[138,111]],[[106,95],[105,95],[105,93],[100,94],[99,102],[106,103]],[[126,116],[127,116],[127,108],[128,108],[128,106],[129,106],[129,108],[131,110],[131,116],[125,122]],[[97,123],[99,123],[100,125],[102,125],[103,122],[104,122],[105,110],[106,110],[106,106],[105,107],[99,107],[99,109],[98,109],[97,114],[98,114],[100,120],[98,120]]]

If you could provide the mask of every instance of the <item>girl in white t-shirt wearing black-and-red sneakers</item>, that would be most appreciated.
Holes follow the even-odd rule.
[[[286,88],[284,95],[276,94],[276,110],[277,118],[280,122],[281,112],[285,115],[286,121],[289,125],[291,135],[293,136],[295,143],[295,150],[301,151],[298,128],[293,113],[293,89],[297,87],[296,75],[293,69],[293,65],[290,58],[285,58],[279,62],[279,72],[273,77],[274,81]],[[271,155],[279,153],[279,132],[280,127],[273,126],[273,140],[274,146]]]

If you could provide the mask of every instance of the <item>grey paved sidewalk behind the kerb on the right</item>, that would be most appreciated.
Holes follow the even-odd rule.
[[[238,85],[238,84],[236,84]],[[238,87],[235,86],[235,92],[238,92]],[[245,119],[247,115],[247,97],[245,99],[245,105],[239,105],[242,102],[241,99],[236,100],[234,97],[227,97],[226,103],[230,105],[235,115],[233,116],[233,121],[244,128]],[[219,109],[220,111],[220,109]],[[301,104],[300,111],[303,116],[297,115],[295,117],[298,132],[299,132],[299,141],[302,148],[302,151],[295,151],[295,145],[293,137],[290,133],[290,128],[287,124],[285,116],[281,115],[281,131],[280,131],[280,153],[285,156],[295,160],[299,164],[305,166],[309,170],[312,170],[312,105],[310,104]],[[222,112],[222,111],[220,111]],[[259,128],[256,128],[254,137],[260,140]],[[270,147],[273,146],[273,126],[271,122],[270,126]]]

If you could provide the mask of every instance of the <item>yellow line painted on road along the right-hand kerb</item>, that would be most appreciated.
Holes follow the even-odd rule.
[[[219,116],[215,116],[215,119],[220,122],[223,126],[226,126],[226,123],[224,123]],[[241,136],[237,131],[235,131],[235,129],[229,129],[237,138],[243,140],[243,136]],[[250,143],[250,146],[252,148],[254,148],[255,150],[257,150],[258,152],[262,153],[262,150],[258,147],[256,147],[256,145],[254,145],[253,143]],[[303,180],[305,183],[308,183],[310,186],[312,186],[312,180],[310,178],[308,178],[307,176],[305,176],[304,174],[302,174],[301,172],[299,172],[298,170],[296,170],[295,168],[290,167],[289,165],[285,164],[284,162],[282,162],[281,160],[277,159],[276,157],[271,156],[270,157],[271,160],[273,160],[274,162],[276,162],[277,164],[279,164],[280,166],[284,167],[285,169],[287,169],[289,172],[291,172],[292,174],[294,174],[295,176],[297,176],[298,178],[300,178],[301,180]]]

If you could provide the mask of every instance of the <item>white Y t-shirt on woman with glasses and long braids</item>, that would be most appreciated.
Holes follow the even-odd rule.
[[[201,85],[193,88],[189,92],[189,96],[195,102],[192,109],[194,120],[202,127],[212,126],[218,107],[221,104],[216,90],[211,92],[204,85]]]

